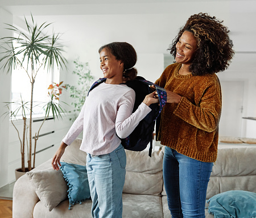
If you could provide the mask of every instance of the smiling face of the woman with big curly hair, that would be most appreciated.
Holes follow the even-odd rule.
[[[196,49],[196,37],[192,32],[184,31],[176,44],[175,61],[180,64],[191,64]]]

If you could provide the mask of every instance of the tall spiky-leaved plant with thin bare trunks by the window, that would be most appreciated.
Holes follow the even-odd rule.
[[[33,114],[33,91],[34,91],[34,83],[36,76],[39,72],[39,69],[44,69],[45,72],[49,72],[49,70],[53,69],[53,65],[57,66],[57,68],[67,68],[67,60],[63,57],[63,47],[59,43],[60,34],[52,33],[51,35],[46,34],[47,28],[51,23],[43,23],[42,25],[38,25],[34,22],[33,16],[31,15],[32,24],[28,24],[27,19],[24,18],[26,22],[26,31],[20,30],[19,28],[6,24],[7,29],[17,33],[17,37],[9,36],[3,37],[0,39],[1,48],[3,52],[0,58],[0,62],[2,62],[2,68],[7,70],[7,73],[11,72],[12,69],[21,68],[26,72],[27,78],[31,83],[31,98],[30,102],[24,102],[21,100],[18,103],[18,109],[22,111],[23,118],[23,133],[22,137],[18,132],[18,137],[21,145],[21,154],[22,154],[22,167],[21,171],[25,171],[24,165],[24,146],[26,141],[26,131],[29,132],[29,140],[28,140],[28,166],[27,170],[30,171],[32,169],[32,114]],[[2,69],[1,68],[1,69]],[[46,103],[46,113],[44,116],[44,120],[46,120],[49,116],[49,112],[52,111],[53,119],[59,118],[61,113],[64,110],[61,108],[59,102],[57,101],[57,96],[60,94],[61,90],[59,88],[61,84],[53,84],[52,90],[53,97]],[[55,89],[57,86],[57,89]],[[50,89],[51,90],[51,89]],[[58,93],[57,90],[60,92]],[[51,95],[51,92],[49,92]],[[54,97],[56,96],[56,97]],[[10,103],[7,103],[7,107],[10,108]],[[30,114],[30,122],[27,125],[26,121],[26,110],[29,111]],[[10,111],[11,118],[15,118],[17,111]],[[13,121],[12,121],[13,123]],[[43,122],[44,123],[44,122]],[[13,123],[14,124],[14,123]],[[15,128],[16,129],[16,128]],[[18,129],[16,129],[18,131]],[[39,128],[40,131],[40,128]],[[36,141],[38,140],[38,133],[35,135],[35,146]],[[35,149],[35,148],[34,148]],[[34,150],[35,152],[35,150]]]

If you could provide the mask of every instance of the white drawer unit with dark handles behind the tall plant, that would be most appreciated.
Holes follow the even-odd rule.
[[[72,125],[70,120],[73,115],[63,116],[63,119],[49,119],[44,121],[44,124],[39,132],[39,139],[36,143],[36,158],[35,166],[39,166],[41,163],[49,160],[53,157],[57,148],[59,148],[60,142],[68,132],[68,129]],[[38,132],[43,118],[35,118],[32,120],[32,137]],[[15,120],[15,126],[19,130],[19,134],[23,133],[23,120]],[[27,125],[29,125],[29,119],[27,119]],[[29,137],[29,132],[27,137]],[[28,142],[29,143],[29,142]],[[25,166],[27,167],[27,147],[25,147]],[[20,154],[20,142],[18,134],[13,127],[13,124],[9,124],[9,152],[8,152],[8,183],[15,181],[14,171],[21,167],[21,154]],[[32,165],[34,161],[34,139],[32,139]],[[51,167],[51,166],[49,166]]]

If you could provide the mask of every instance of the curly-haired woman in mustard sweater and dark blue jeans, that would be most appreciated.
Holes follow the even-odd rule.
[[[208,14],[192,15],[170,45],[175,64],[155,82],[167,90],[158,140],[166,145],[164,186],[172,217],[205,217],[205,199],[217,157],[221,87],[233,44],[228,28]]]

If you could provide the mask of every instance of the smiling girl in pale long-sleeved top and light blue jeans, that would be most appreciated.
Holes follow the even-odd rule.
[[[59,170],[65,148],[83,131],[80,149],[87,153],[92,217],[118,218],[122,217],[126,172],[126,154],[119,137],[129,136],[151,111],[148,106],[159,100],[154,98],[154,92],[147,95],[132,114],[135,92],[122,83],[122,79],[123,76],[134,79],[137,75],[134,48],[128,43],[115,42],[104,45],[98,52],[106,81],[90,91],[78,118],[55,153],[52,167]]]

